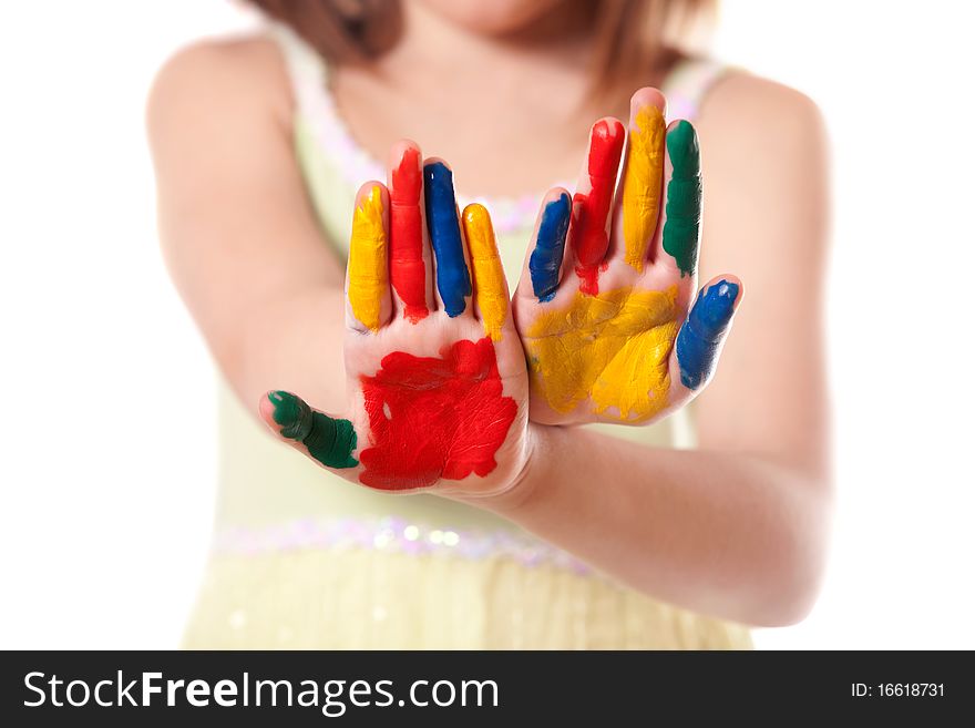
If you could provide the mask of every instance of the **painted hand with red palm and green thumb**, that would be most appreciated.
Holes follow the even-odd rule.
[[[347,411],[326,414],[277,391],[260,413],[281,439],[352,482],[500,494],[531,451],[524,352],[488,211],[469,205],[458,219],[450,167],[427,160],[421,168],[420,160],[415,144],[397,144],[389,187],[367,183],[357,196]]]

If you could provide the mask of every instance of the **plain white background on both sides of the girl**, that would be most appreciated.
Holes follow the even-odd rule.
[[[0,11],[0,646],[172,647],[213,513],[213,377],[155,236],[143,132],[223,0]],[[965,17],[963,17],[965,16]],[[973,19],[966,3],[726,0],[722,58],[833,142],[841,507],[822,598],[760,647],[975,647]]]

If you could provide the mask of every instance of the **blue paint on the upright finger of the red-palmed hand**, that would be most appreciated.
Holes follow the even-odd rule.
[[[471,295],[471,274],[464,262],[464,246],[453,195],[453,172],[442,162],[423,167],[427,229],[437,259],[437,289],[448,316],[464,312]]]

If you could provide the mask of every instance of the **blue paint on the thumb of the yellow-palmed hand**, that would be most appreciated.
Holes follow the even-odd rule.
[[[718,348],[735,314],[738,284],[720,280],[697,295],[694,308],[677,335],[680,382],[697,389],[710,376]]]

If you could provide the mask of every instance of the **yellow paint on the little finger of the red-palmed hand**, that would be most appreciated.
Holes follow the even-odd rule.
[[[476,203],[464,207],[463,218],[464,237],[468,239],[471,267],[474,269],[474,294],[484,334],[492,341],[500,341],[501,329],[507,318],[507,289],[494,240],[494,227],[488,211]]]

